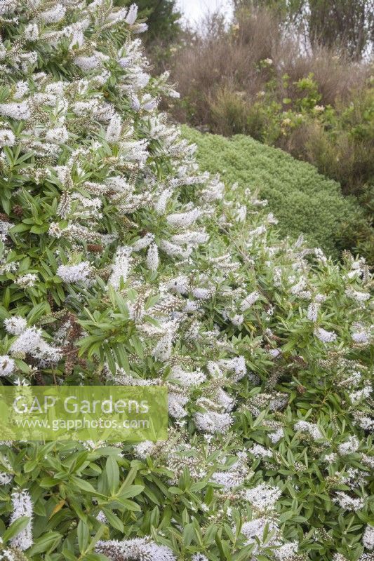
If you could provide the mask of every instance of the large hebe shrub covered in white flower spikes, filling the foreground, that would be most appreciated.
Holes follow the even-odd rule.
[[[160,384],[170,413],[135,446],[4,434],[1,558],[369,560],[364,260],[199,173],[135,6],[0,13],[1,381]]]

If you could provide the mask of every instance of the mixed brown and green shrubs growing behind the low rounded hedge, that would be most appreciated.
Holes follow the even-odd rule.
[[[370,2],[334,3],[334,8],[328,2],[312,2],[310,21],[308,10],[302,11],[308,4],[303,1],[235,4],[229,29],[213,15],[203,34],[191,35],[175,48],[172,76],[182,97],[168,108],[180,122],[225,136],[250,135],[340,182],[342,193],[356,196],[366,215],[346,216],[344,234],[338,234],[340,247],[359,251],[373,262]],[[335,43],[335,24],[323,22],[330,9],[347,15],[339,23]],[[349,27],[356,25],[359,14],[366,22],[365,36],[358,27]],[[323,26],[326,35],[318,36],[316,29],[321,32]]]

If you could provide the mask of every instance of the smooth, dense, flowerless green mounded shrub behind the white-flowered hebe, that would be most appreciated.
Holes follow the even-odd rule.
[[[320,175],[312,165],[245,135],[225,138],[187,126],[183,134],[197,144],[201,169],[220,173],[227,184],[258,189],[260,197],[267,198],[281,234],[296,237],[303,232],[309,243],[338,255],[342,229],[359,208],[353,198],[342,196],[337,182]]]

